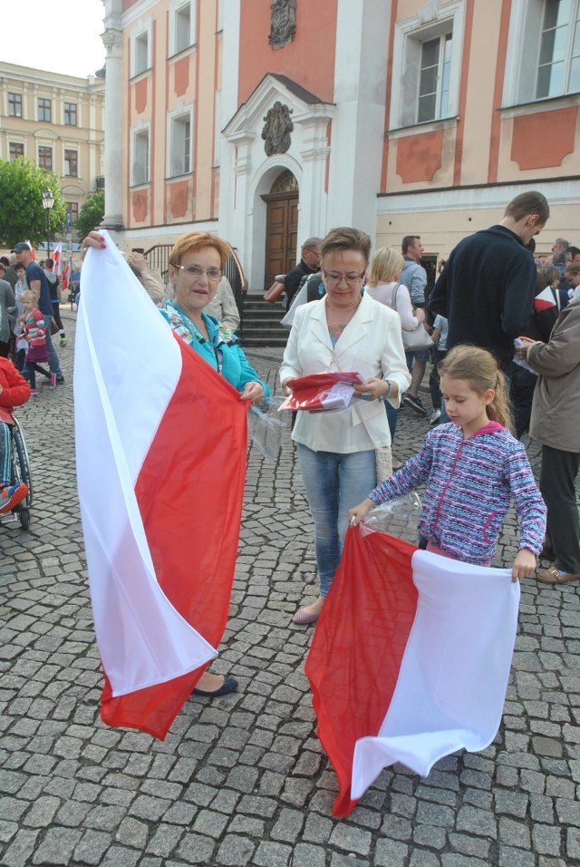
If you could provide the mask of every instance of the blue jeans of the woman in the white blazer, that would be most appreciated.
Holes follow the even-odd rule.
[[[314,554],[320,595],[328,593],[338,568],[348,526],[348,510],[377,483],[374,449],[365,452],[313,452],[297,443],[306,499],[314,518]]]

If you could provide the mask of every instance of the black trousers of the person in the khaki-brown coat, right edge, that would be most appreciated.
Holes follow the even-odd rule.
[[[546,548],[556,555],[554,565],[564,572],[580,572],[580,521],[575,480],[580,454],[542,446],[540,492],[547,506]]]

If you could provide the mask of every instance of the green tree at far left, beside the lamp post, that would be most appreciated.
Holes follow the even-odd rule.
[[[0,160],[0,245],[10,249],[18,241],[33,244],[46,241],[46,214],[43,209],[43,189],[53,193],[50,212],[50,234],[62,232],[66,220],[66,204],[52,171],[39,169],[30,160]]]

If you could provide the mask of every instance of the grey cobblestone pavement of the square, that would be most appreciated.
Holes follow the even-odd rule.
[[[67,325],[73,319],[66,311]],[[580,864],[580,588],[522,586],[505,716],[482,753],[428,779],[383,772],[346,820],[304,677],[311,522],[295,452],[252,446],[231,617],[213,670],[235,696],[192,698],[164,742],[102,725],[66,384],[18,411],[35,482],[31,529],[0,526],[0,863],[260,867]],[[248,352],[274,385],[277,350]],[[428,400],[428,397],[427,397]],[[427,423],[401,412],[395,452]],[[537,465],[537,448],[530,455]],[[498,562],[516,551],[507,521]]]

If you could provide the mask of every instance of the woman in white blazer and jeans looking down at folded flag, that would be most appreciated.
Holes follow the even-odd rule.
[[[371,239],[359,229],[332,229],[320,246],[326,295],[296,310],[280,370],[282,385],[296,376],[357,371],[355,399],[334,413],[299,412],[297,443],[306,498],[314,518],[320,595],[296,611],[314,623],[341,557],[348,510],[376,481],[376,450],[391,443],[383,403],[398,407],[411,377],[398,314],[362,292]]]

